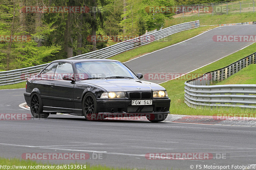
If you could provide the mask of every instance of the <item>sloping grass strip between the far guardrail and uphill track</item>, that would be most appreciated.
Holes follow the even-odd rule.
[[[168,37],[165,37],[163,39],[151,42],[145,46],[140,46],[140,47],[134,48],[132,50],[117,54],[108,59],[119,60],[121,62],[125,62],[125,61],[131,60],[133,58],[137,58],[141,55],[151,53],[153,51],[160,50],[164,47],[179,43],[186,39],[190,39],[192,37],[195,37],[198,34],[201,34],[205,31],[210,30],[215,27],[216,26],[205,26],[205,27],[199,27],[199,28],[195,28],[195,29],[191,29],[191,30],[178,32],[178,33],[172,34]]]

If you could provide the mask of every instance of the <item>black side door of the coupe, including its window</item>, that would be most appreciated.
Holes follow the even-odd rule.
[[[70,63],[59,62],[53,80],[50,82],[52,107],[74,108],[74,81],[63,80],[63,75],[74,77]]]

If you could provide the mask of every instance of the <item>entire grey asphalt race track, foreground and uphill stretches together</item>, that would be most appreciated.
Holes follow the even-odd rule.
[[[214,42],[213,35],[256,35],[256,25],[225,26],[196,38],[126,62],[135,73],[186,73],[241,49],[251,42]],[[168,61],[168,62],[167,62]],[[142,63],[142,64],[141,64]],[[29,113],[19,107],[25,89],[0,90],[0,113]],[[171,94],[169,94],[171,95]],[[186,114],[186,113],[183,113]],[[32,116],[31,116],[32,117]],[[44,160],[146,169],[196,169],[196,165],[256,164],[253,127],[135,120],[85,121],[50,115],[47,119],[0,120],[0,157],[23,153],[89,153],[88,160]],[[210,153],[211,160],[148,160],[147,153]],[[222,155],[220,158],[219,155]],[[217,156],[217,159],[216,159]],[[197,167],[198,169],[198,167]],[[204,169],[204,168],[203,168]],[[233,168],[234,169],[234,168]]]

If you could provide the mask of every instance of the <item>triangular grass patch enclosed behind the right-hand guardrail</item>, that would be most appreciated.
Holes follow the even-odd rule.
[[[256,84],[256,64],[251,64],[234,75],[231,75],[226,80],[217,82],[214,85],[222,84]]]

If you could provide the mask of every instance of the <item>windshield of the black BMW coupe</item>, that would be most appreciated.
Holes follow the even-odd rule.
[[[83,61],[75,63],[79,80],[92,78],[132,78],[136,75],[123,63],[117,61]]]

